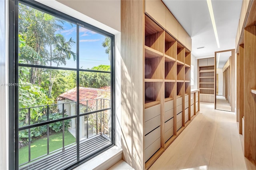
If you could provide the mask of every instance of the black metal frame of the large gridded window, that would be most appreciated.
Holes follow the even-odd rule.
[[[83,26],[84,28],[88,28],[89,30],[92,30],[94,32],[97,32],[99,34],[102,34],[104,36],[108,36],[111,40],[111,60],[110,60],[110,90],[111,90],[111,145],[107,146],[101,150],[98,150],[94,152],[92,155],[83,158],[83,159],[78,159],[79,161],[76,161],[76,163],[72,164],[69,167],[66,167],[65,169],[73,169],[87,160],[94,158],[98,154],[104,152],[105,150],[111,148],[112,146],[115,145],[115,49],[114,49],[114,44],[115,44],[115,36],[114,34],[111,34],[109,32],[106,32],[100,28],[97,28],[95,26],[92,26],[84,21],[81,21],[77,18],[74,18],[72,16],[69,16],[67,14],[64,14],[63,12],[60,12],[58,10],[55,10],[53,8],[50,8],[44,4],[41,4],[39,2],[36,2],[34,0],[9,0],[9,83],[10,84],[17,84],[18,83],[18,67],[19,66],[30,66],[30,64],[19,64],[18,63],[18,4],[22,3],[27,6],[30,6],[32,8],[35,8],[37,10],[46,12],[52,16],[56,16],[60,19],[66,20],[68,22],[74,23],[77,25],[77,39],[76,39],[76,55],[77,55],[77,65],[76,68],[62,68],[62,67],[52,67],[52,66],[39,66],[40,68],[54,68],[58,70],[76,70],[77,73],[77,101],[79,101],[79,72],[80,71],[85,71],[85,72],[100,72],[104,73],[105,71],[97,71],[97,70],[87,70],[87,69],[80,69],[79,68],[79,26]],[[36,66],[38,67],[38,66]],[[19,120],[18,120],[18,86],[9,86],[9,169],[13,170],[18,170],[19,169],[19,164],[18,164],[18,128],[19,128]],[[79,104],[77,104],[76,110],[79,112]],[[77,128],[79,128],[79,117],[81,115],[77,114]],[[77,155],[79,158],[79,133],[77,143]]]

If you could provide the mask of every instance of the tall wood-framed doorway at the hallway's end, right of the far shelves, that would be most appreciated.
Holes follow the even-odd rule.
[[[234,112],[232,94],[234,73],[232,73],[233,50],[215,52],[215,109]],[[233,54],[234,55],[234,54]]]

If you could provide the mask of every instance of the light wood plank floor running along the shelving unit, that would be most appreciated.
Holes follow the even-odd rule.
[[[150,170],[246,170],[236,116],[200,104],[200,113]]]

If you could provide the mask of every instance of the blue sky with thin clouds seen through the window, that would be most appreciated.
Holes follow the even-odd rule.
[[[56,34],[62,34],[66,41],[72,38],[76,42],[76,25],[65,22],[64,30],[59,30]],[[105,36],[79,26],[79,67],[92,68],[100,64],[110,65],[108,54],[105,53],[106,48],[102,46]],[[72,46],[72,51],[76,53],[76,44]],[[76,68],[76,61],[73,58],[67,60],[67,64],[62,67]]]

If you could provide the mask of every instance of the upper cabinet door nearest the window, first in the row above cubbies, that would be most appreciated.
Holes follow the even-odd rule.
[[[161,0],[145,0],[145,13],[166,28],[166,6]]]

